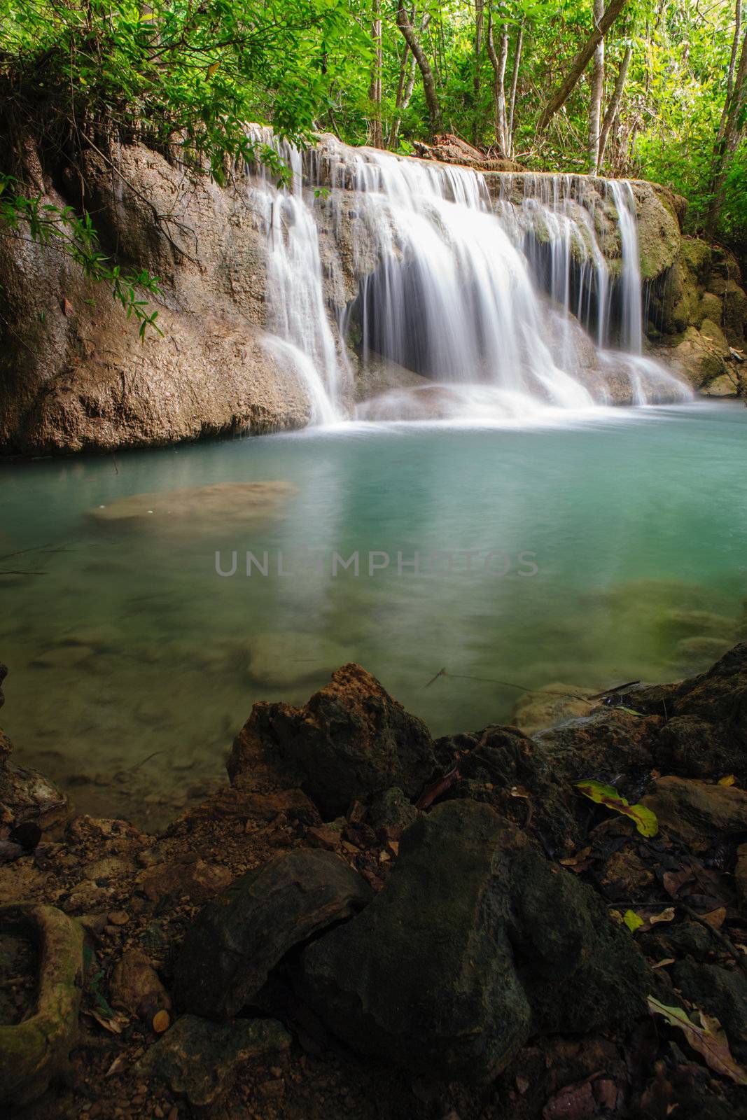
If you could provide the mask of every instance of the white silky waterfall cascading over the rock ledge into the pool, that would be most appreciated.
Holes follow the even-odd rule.
[[[607,186],[622,248],[614,280],[597,234],[603,180],[526,175],[517,199],[505,176],[494,202],[474,170],[325,138],[307,158],[304,187],[299,153],[287,147],[281,153],[292,187],[254,180],[269,235],[268,327],[276,339],[268,345],[302,377],[314,421],[339,418],[339,401],[351,400],[352,323],[363,380],[374,361],[394,371],[394,384],[390,376],[383,392],[358,407],[364,419],[531,418],[548,408],[691,395],[643,356],[629,183]],[[352,254],[347,250],[358,296],[335,315],[327,306],[333,300],[325,301],[325,277],[351,267],[340,236],[351,212],[366,253],[353,237]],[[335,242],[324,270],[321,226]],[[617,351],[605,348],[613,302],[622,324]]]

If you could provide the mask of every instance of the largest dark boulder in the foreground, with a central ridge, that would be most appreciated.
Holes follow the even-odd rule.
[[[486,1083],[531,1034],[628,1023],[646,973],[589,887],[454,801],[408,829],[382,890],[304,951],[295,982],[358,1052]]]

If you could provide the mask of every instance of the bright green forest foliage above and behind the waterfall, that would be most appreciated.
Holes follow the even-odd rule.
[[[515,158],[531,169],[585,171],[589,68],[542,136],[536,125],[589,36],[592,0],[485,0],[479,50],[478,3],[405,3],[445,129],[484,150],[495,143],[489,12],[496,44],[507,32],[507,88],[520,29],[523,35]],[[110,284],[142,330],[152,319],[146,323],[137,291],[155,293],[156,281],[137,271],[123,276],[106,260],[85,213],[85,188],[77,215],[55,214],[25,190],[35,179],[25,165],[29,138],[54,165],[45,174],[54,180],[65,170],[69,179],[72,171],[83,185],[87,155],[95,149],[113,160],[116,144],[133,139],[220,184],[251,160],[287,180],[276,148],[248,134],[252,121],[271,123],[278,137],[302,148],[317,130],[371,142],[373,122],[381,120],[385,143],[410,153],[428,137],[429,114],[417,68],[411,96],[398,101],[412,62],[398,7],[399,0],[0,0],[0,171],[17,180],[12,189],[3,180],[3,224],[60,239],[92,279]],[[377,17],[380,104],[372,101]],[[605,39],[603,109],[628,46],[632,57],[603,172],[652,178],[684,195],[690,232],[702,228],[711,203],[734,29],[734,0],[628,0]],[[717,230],[737,249],[747,244],[746,179],[743,122]]]

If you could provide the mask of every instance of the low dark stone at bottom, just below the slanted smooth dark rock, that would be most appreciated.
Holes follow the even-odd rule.
[[[290,1035],[273,1019],[216,1024],[183,1015],[146,1053],[138,1073],[167,1084],[195,1108],[206,1108],[231,1089],[248,1063],[289,1046]]]

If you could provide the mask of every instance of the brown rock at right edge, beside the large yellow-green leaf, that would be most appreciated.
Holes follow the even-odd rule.
[[[723,832],[747,831],[747,793],[736,786],[670,774],[657,778],[641,803],[656,814],[662,831],[689,844],[702,846]]]

